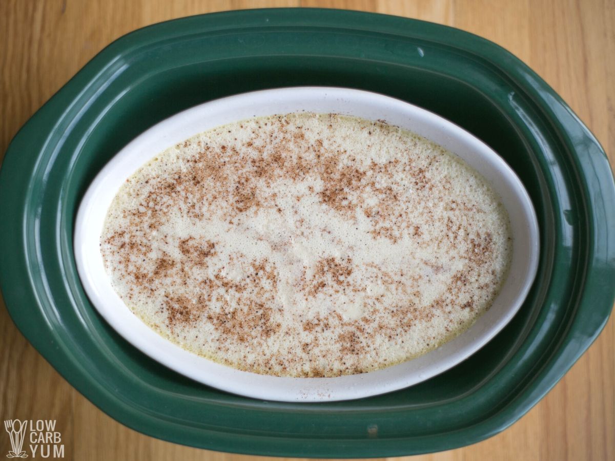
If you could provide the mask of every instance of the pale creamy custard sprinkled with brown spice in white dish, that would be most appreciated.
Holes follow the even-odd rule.
[[[258,117],[140,168],[101,234],[114,289],[162,336],[235,368],[340,376],[417,357],[493,302],[509,221],[477,172],[401,128]]]

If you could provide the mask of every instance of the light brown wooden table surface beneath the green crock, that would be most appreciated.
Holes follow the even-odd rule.
[[[613,165],[613,0],[0,0],[0,153],[28,117],[117,37],[171,18],[274,6],[381,12],[486,37],[525,61],[560,93],[601,141]],[[482,443],[413,460],[614,460],[614,342],[611,318],[581,360],[512,427]],[[57,420],[65,459],[250,458],[159,441],[117,423],[58,375],[17,331],[4,306],[0,346],[0,419]],[[1,431],[0,457],[9,450],[9,436]]]

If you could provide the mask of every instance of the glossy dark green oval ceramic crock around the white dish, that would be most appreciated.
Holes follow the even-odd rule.
[[[371,90],[437,112],[490,144],[530,192],[541,226],[536,283],[506,329],[464,363],[364,400],[250,400],[149,359],[85,297],[73,222],[98,170],[178,111],[295,85]],[[15,136],[0,170],[0,197],[0,283],[11,317],[34,347],[123,424],[220,451],[384,457],[485,439],[563,376],[600,333],[615,296],[615,186],[589,130],[506,50],[404,18],[244,10],[122,37]]]

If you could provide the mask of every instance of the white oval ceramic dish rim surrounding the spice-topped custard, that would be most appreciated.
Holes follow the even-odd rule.
[[[440,144],[464,159],[493,186],[509,213],[510,271],[491,308],[465,333],[414,360],[379,371],[333,378],[264,376],[229,368],[159,336],[113,290],[99,242],[106,212],[125,179],[151,157],[209,128],[255,116],[311,111],[386,120]],[[391,392],[429,379],[483,347],[522,305],[538,267],[539,235],[528,193],[514,171],[485,143],[448,120],[376,93],[331,87],[263,90],[200,104],[149,128],[125,146],[94,179],[77,213],[74,252],[85,292],[127,341],[154,360],[204,384],[254,398],[334,401]]]

